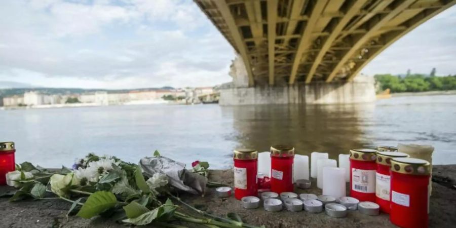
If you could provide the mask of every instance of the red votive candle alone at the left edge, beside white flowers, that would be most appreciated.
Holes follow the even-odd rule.
[[[0,185],[6,185],[6,174],[16,169],[14,142],[0,142]]]

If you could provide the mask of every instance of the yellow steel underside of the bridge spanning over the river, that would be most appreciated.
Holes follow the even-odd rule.
[[[242,57],[249,86],[352,80],[456,0],[194,0]]]

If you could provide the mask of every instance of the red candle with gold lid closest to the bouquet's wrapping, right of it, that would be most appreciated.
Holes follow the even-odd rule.
[[[241,200],[246,196],[258,195],[258,151],[254,149],[234,150],[235,197]]]

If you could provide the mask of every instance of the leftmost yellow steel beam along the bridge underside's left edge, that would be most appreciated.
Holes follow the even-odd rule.
[[[250,58],[247,55],[247,47],[242,41],[241,32],[239,31],[239,28],[235,23],[235,19],[231,14],[230,7],[226,4],[225,0],[217,0],[214,1],[214,3],[220,11],[220,14],[222,15],[226,25],[230,29],[239,54],[241,54],[241,57],[244,60],[245,68],[247,69],[247,74],[249,75],[249,86],[254,86],[255,81],[253,79],[252,67],[250,66]]]

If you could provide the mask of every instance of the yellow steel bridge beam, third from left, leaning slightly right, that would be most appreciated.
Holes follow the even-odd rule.
[[[291,65],[290,79],[288,81],[288,84],[290,85],[294,83],[302,53],[310,46],[312,31],[314,30],[314,27],[317,24],[317,20],[323,12],[327,3],[328,0],[319,0],[315,3],[311,16],[307,21],[306,28],[303,30],[301,39],[299,40],[296,54],[294,55],[293,64]]]

